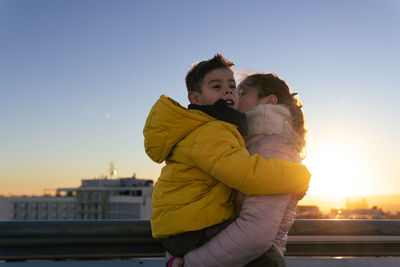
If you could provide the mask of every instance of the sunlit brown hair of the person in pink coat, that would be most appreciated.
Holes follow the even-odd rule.
[[[295,97],[297,93],[292,93],[286,82],[278,77],[275,73],[257,73],[247,76],[241,86],[251,86],[258,90],[258,98],[275,95],[278,104],[283,104],[289,108],[292,118],[292,127],[297,133],[297,151],[304,157],[304,148],[306,145],[307,130],[304,127],[304,115],[301,110],[303,105]]]

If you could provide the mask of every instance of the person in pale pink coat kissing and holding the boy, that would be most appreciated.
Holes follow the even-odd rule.
[[[273,73],[239,84],[239,111],[246,112],[251,154],[300,162],[305,146],[301,104]],[[247,196],[237,192],[238,217],[206,244],[184,256],[184,266],[285,266],[287,233],[301,195]],[[181,263],[182,264],[182,263]]]

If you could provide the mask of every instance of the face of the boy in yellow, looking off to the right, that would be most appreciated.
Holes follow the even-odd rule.
[[[237,109],[239,93],[230,69],[214,69],[204,76],[201,83],[201,93],[189,92],[189,101],[197,105],[213,105],[218,99],[225,99],[228,105]]]

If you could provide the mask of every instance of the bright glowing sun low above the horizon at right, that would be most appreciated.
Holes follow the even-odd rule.
[[[312,174],[308,194],[345,197],[373,193],[370,165],[354,148],[331,145],[308,156],[304,160]]]

